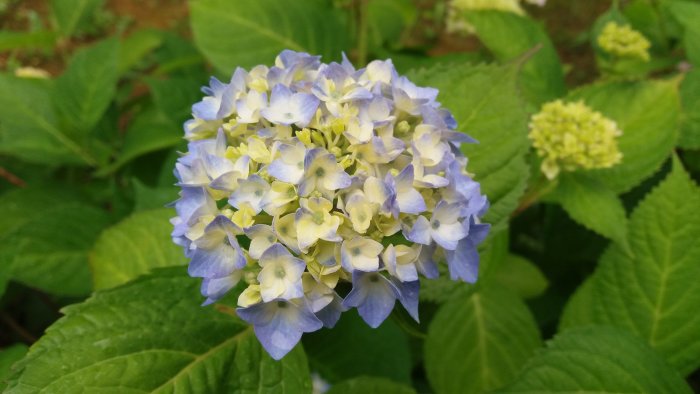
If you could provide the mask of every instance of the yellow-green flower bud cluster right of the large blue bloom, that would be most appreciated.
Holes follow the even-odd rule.
[[[532,145],[542,157],[542,172],[554,179],[560,171],[612,167],[622,160],[615,121],[583,102],[556,100],[542,106],[530,121]]]

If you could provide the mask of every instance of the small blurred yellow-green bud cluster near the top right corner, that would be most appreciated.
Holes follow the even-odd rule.
[[[629,25],[608,22],[598,36],[598,45],[605,52],[620,58],[639,59],[645,62],[650,58],[649,40]]]

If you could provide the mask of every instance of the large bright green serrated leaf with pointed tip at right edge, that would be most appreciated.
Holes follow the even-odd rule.
[[[583,324],[607,324],[644,338],[681,373],[700,367],[700,189],[677,160],[630,218],[630,256],[613,244],[584,302]]]

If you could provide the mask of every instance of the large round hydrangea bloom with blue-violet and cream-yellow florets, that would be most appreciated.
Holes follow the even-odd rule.
[[[319,59],[284,51],[212,78],[175,169],[173,238],[205,304],[245,285],[237,314],[276,359],[351,307],[377,327],[398,300],[417,320],[419,275],[436,278],[444,258],[474,282],[488,232],[459,150],[473,140],[437,90],[391,61]]]

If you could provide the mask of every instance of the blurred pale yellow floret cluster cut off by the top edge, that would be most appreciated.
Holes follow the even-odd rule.
[[[544,6],[547,0],[522,0],[525,3]],[[473,34],[474,27],[464,18],[465,11],[496,10],[525,15],[521,0],[451,0],[447,9],[445,28],[450,33]]]

